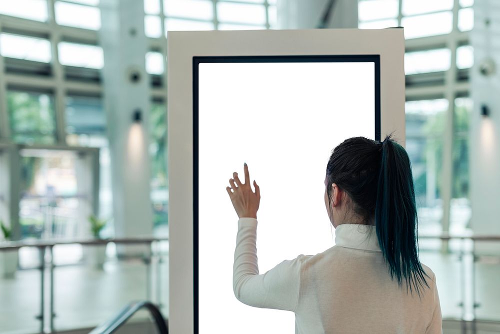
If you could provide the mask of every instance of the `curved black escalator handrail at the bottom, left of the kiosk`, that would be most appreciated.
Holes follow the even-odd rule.
[[[168,326],[160,310],[150,301],[134,301],[123,307],[113,318],[95,327],[89,334],[111,334],[121,327],[138,310],[145,308],[153,317],[160,334],[168,334]]]

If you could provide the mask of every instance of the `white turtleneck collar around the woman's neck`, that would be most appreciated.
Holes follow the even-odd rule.
[[[361,250],[381,251],[376,238],[375,226],[340,224],[335,228],[335,245]]]

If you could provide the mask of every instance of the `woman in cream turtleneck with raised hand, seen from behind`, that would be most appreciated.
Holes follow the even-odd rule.
[[[326,166],[324,202],[335,246],[259,275],[260,189],[237,173],[226,190],[238,214],[233,289],[241,302],[295,312],[296,333],[441,333],[432,270],[417,254],[416,207],[404,148],[345,140]],[[271,224],[272,222],[266,222]]]

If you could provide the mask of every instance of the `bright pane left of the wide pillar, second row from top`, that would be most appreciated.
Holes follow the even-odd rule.
[[[58,45],[62,65],[101,69],[104,66],[102,48],[95,45],[61,42]]]

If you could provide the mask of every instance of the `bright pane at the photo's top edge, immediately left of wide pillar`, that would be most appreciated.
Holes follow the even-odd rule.
[[[55,3],[55,22],[61,26],[100,29],[100,10],[96,7]]]

